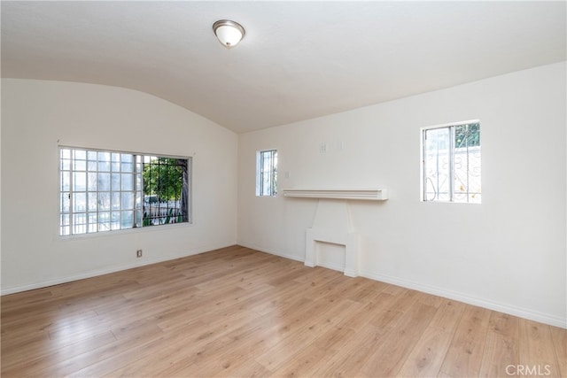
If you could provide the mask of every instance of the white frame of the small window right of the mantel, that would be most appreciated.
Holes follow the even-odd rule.
[[[455,200],[455,191],[454,191],[454,181],[455,181],[455,164],[454,164],[454,155],[455,150],[457,147],[455,146],[455,129],[456,127],[460,126],[471,126],[471,125],[478,125],[478,146],[470,146],[472,148],[478,147],[478,154],[479,156],[479,169],[480,174],[482,174],[482,154],[481,154],[481,136],[480,136],[480,120],[465,120],[460,122],[452,122],[443,125],[436,125],[436,126],[428,126],[428,127],[421,127],[420,128],[420,201],[421,202],[432,202],[432,203],[447,203],[447,204],[482,204],[482,178],[479,179],[480,187],[478,194],[480,195],[480,199],[478,201],[470,201],[470,188],[467,188],[467,200],[466,201],[456,201]],[[437,198],[434,199],[427,199],[427,170],[426,170],[426,133],[431,130],[439,130],[447,128],[449,131],[448,137],[448,171],[449,171],[449,179],[448,179],[448,196],[449,199],[447,200],[439,200]],[[469,158],[469,152],[467,152],[467,158]],[[467,161],[467,172],[469,172],[469,161]],[[480,175],[479,174],[479,175]]]

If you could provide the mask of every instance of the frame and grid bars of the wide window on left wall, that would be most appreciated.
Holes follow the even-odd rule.
[[[69,157],[64,158],[63,151],[69,151]],[[85,158],[84,158],[84,169],[77,168],[77,162],[82,162],[82,158],[76,158],[75,154],[76,151],[84,151]],[[97,159],[94,160],[93,158],[89,158],[89,153],[97,153]],[[106,160],[109,164],[108,171],[105,168],[100,167],[100,158],[99,153],[106,153],[109,155],[109,158]],[[114,161],[114,155],[119,155],[120,157],[118,160]],[[130,155],[131,158],[127,159],[129,161],[125,161],[123,155]],[[116,231],[124,232],[124,231],[131,231],[136,228],[148,228],[147,225],[144,226],[144,158],[151,157],[151,158],[175,158],[175,159],[183,159],[187,162],[186,165],[186,173],[187,173],[187,190],[186,190],[186,208],[185,213],[187,214],[187,221],[181,222],[172,222],[166,223],[167,226],[173,225],[183,225],[192,223],[192,216],[191,216],[191,209],[192,209],[192,159],[190,157],[181,157],[181,156],[172,156],[172,155],[164,155],[164,154],[154,154],[154,153],[140,153],[140,152],[132,152],[132,151],[125,151],[125,150],[105,150],[99,148],[90,148],[90,147],[79,147],[79,146],[71,146],[71,145],[58,145],[58,236],[61,238],[69,238],[69,237],[81,237],[85,235],[109,235],[114,234]],[[67,160],[68,166],[65,166],[64,163]],[[96,169],[89,168],[89,163],[96,163]],[[131,164],[132,168],[131,171],[123,171],[124,164]],[[113,164],[119,164],[120,169],[115,170],[113,168]],[[65,183],[64,181],[64,173],[67,173],[69,182]],[[84,190],[77,189],[74,187],[74,176],[75,174],[82,174],[85,175],[85,187]],[[100,189],[100,181],[98,180],[99,174],[108,174],[109,175],[109,183],[108,183],[108,190],[101,190]],[[97,177],[96,189],[92,187],[89,188],[89,174],[95,174]],[[118,181],[118,188],[113,187],[113,174],[117,174],[120,177],[120,181]],[[124,189],[122,186],[122,175],[123,174],[132,174],[132,183],[131,189]],[[68,185],[68,186],[66,186]],[[182,189],[183,190],[183,189]],[[108,204],[108,209],[100,209],[100,196],[99,193],[108,193],[108,197],[111,198]],[[85,197],[85,204],[84,209],[77,211],[74,208],[74,200],[77,195],[84,193]],[[89,194],[95,193],[96,194],[96,209],[89,209]],[[123,207],[123,198],[122,193],[131,193],[133,207]],[[68,197],[68,204],[65,204],[66,200],[64,197]],[[113,197],[120,197],[120,202],[118,207],[113,207]],[[110,214],[110,218],[108,223],[107,229],[100,229],[101,222],[100,218],[101,215],[104,215],[106,212]],[[113,222],[113,212],[120,213],[120,220],[117,222]],[[126,222],[122,221],[121,215],[122,212],[130,212],[128,214],[131,216],[131,223],[129,218],[126,218]],[[85,217],[84,228],[82,232],[77,232],[77,228],[74,228],[74,215],[83,214]],[[127,215],[127,216],[128,216]],[[68,221],[64,221],[64,217],[68,217]],[[95,217],[97,219],[96,222],[89,222],[89,217]],[[104,223],[104,222],[103,222]],[[115,224],[113,224],[115,223]],[[130,227],[125,227],[125,224],[129,223]],[[166,224],[159,224],[160,226],[165,226]],[[92,228],[92,226],[95,226]],[[153,225],[153,224],[152,224]]]

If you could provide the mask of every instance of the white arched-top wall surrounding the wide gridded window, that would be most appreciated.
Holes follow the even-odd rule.
[[[193,224],[59,237],[59,144],[192,157]],[[2,293],[236,243],[236,156],[236,134],[155,96],[3,80]]]

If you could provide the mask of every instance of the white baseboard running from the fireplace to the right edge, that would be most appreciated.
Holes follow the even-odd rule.
[[[369,278],[371,280],[376,280],[379,282],[391,283],[392,285],[401,286],[406,289],[415,289],[417,291],[422,291],[427,294],[432,294],[438,297],[445,297],[448,299],[454,299],[459,302],[466,303],[468,305],[477,305],[489,310],[508,313],[509,315],[514,315],[527,320],[539,321],[540,323],[545,323],[550,326],[555,326],[559,328],[567,329],[567,319],[558,318],[553,315],[549,315],[543,312],[537,312],[530,309],[519,308],[510,305],[502,305],[492,301],[487,301],[485,299],[470,297],[466,294],[440,289],[430,285],[423,285],[418,282],[411,282],[408,280],[401,280],[397,277],[392,277],[386,274],[375,274],[368,271],[361,271],[360,275],[362,277]]]

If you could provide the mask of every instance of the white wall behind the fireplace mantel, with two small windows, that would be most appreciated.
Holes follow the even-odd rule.
[[[563,62],[240,135],[238,243],[305,257],[317,200],[254,196],[276,148],[279,189],[389,189],[351,202],[363,275],[565,328],[565,80]],[[421,203],[420,127],[475,119],[483,203]]]

